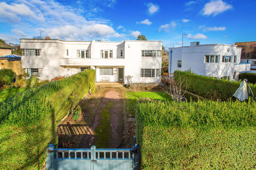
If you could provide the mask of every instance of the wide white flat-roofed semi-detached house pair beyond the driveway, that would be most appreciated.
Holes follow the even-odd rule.
[[[96,70],[96,82],[160,82],[161,41],[102,42],[20,39],[24,71],[39,79]],[[126,83],[126,82],[125,82]]]

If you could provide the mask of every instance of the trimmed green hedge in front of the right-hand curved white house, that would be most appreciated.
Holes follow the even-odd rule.
[[[179,79],[179,77],[185,79],[183,83],[187,83],[187,91],[213,100],[227,100],[232,98],[233,94],[240,86],[240,82],[215,79],[213,77],[201,76],[187,71],[175,71],[175,80]],[[249,85],[253,94],[256,94],[256,85]]]

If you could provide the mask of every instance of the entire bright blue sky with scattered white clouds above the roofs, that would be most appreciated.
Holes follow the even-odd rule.
[[[256,40],[256,0],[0,0],[0,38],[161,40],[167,47]]]

